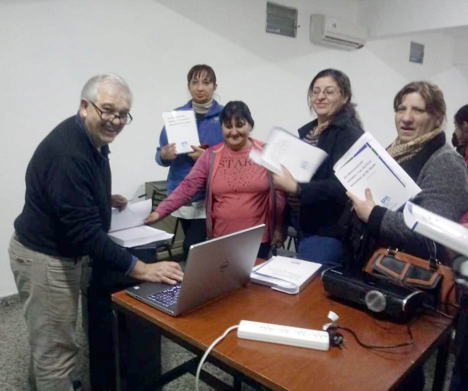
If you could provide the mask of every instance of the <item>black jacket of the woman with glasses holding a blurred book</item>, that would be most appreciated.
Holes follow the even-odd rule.
[[[317,125],[317,119],[302,126],[298,132],[304,138]],[[319,136],[317,146],[328,158],[308,183],[299,183],[300,229],[303,236],[339,237],[338,220],[347,205],[345,187],[336,178],[333,166],[364,133],[360,123],[344,108]]]

